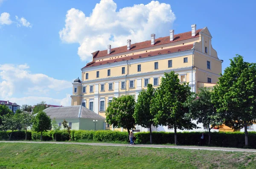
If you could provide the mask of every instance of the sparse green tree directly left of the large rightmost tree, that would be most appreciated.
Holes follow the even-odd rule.
[[[212,94],[212,89],[204,87],[200,89],[198,94],[192,95],[187,101],[191,118],[196,120],[197,124],[203,123],[208,128],[208,144],[211,142],[211,129],[223,124],[215,105],[211,101]]]

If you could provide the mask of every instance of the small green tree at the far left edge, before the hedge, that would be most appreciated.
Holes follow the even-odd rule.
[[[2,124],[1,124],[1,129],[2,130],[11,130],[12,132],[14,130],[18,130],[20,129],[20,118],[18,116],[18,114],[6,114],[6,115],[3,115],[3,121],[2,121]],[[9,136],[9,141],[12,137],[12,132]]]

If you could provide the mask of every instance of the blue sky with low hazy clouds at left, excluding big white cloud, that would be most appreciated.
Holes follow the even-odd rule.
[[[81,76],[80,69],[91,59],[87,61],[88,57],[81,59],[82,54],[79,57],[78,48],[81,39],[77,38],[73,42],[63,40],[59,32],[65,28],[67,11],[75,8],[82,11],[86,17],[90,17],[93,8],[99,2],[99,0],[0,0],[0,14],[8,13],[12,21],[8,24],[2,21],[1,24],[0,20],[0,100],[10,99],[18,104],[35,104],[39,100],[45,100],[48,104],[70,104],[67,94],[72,94],[72,81]],[[116,11],[119,11],[134,4],[146,5],[151,1],[114,0],[114,2],[117,5]],[[170,21],[169,28],[164,30],[175,29],[175,34],[178,34],[190,31],[190,25],[194,23],[197,24],[197,28],[205,26],[209,28],[213,37],[212,46],[217,51],[219,59],[224,60],[223,70],[229,65],[229,59],[236,54],[244,56],[247,62],[256,62],[255,1],[159,0],[159,2],[170,4],[176,18]],[[17,20],[15,16],[18,17]],[[30,25],[23,25],[21,17],[24,17]],[[108,32],[112,34],[111,30]],[[86,37],[86,32],[79,35]],[[161,36],[168,35],[168,31],[161,34]],[[156,36],[159,37],[157,34]],[[72,35],[68,38],[70,37],[72,38]],[[113,47],[116,46],[112,45]],[[16,80],[12,79],[12,81],[10,76],[17,73],[15,70],[18,70],[18,73],[25,72],[13,77]],[[40,75],[44,76],[44,81],[40,79]]]

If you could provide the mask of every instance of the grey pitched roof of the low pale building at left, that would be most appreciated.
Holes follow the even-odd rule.
[[[93,119],[105,119],[101,115],[94,113],[93,111],[78,106],[66,106],[66,107],[49,107],[44,112],[50,116],[50,118],[93,118]]]

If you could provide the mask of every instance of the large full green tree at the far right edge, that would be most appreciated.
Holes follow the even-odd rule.
[[[212,100],[224,124],[233,129],[244,127],[245,146],[248,146],[247,125],[256,121],[256,64],[244,62],[240,55],[230,59],[230,66],[214,87]]]

